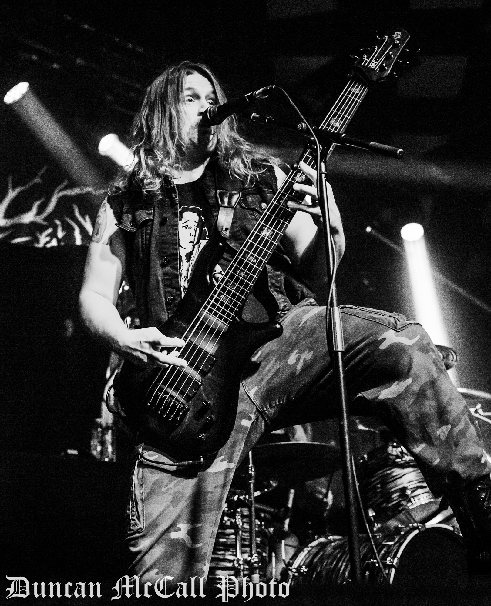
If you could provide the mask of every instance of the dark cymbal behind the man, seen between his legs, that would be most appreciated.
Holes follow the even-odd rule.
[[[281,484],[294,486],[322,478],[341,468],[339,448],[320,442],[276,442],[252,449],[256,482],[276,478]],[[235,472],[232,485],[247,482],[249,458]]]

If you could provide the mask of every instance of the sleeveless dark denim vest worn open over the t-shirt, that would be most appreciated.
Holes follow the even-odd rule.
[[[230,178],[210,161],[203,185],[213,217],[218,217],[219,190],[240,191],[230,227],[229,244],[239,250],[278,189],[272,167],[259,176],[252,187]],[[178,193],[170,179],[161,190],[144,195],[132,182],[129,190],[108,196],[116,224],[126,245],[126,275],[136,301],[141,327],[159,326],[167,321],[181,301],[179,284]],[[222,267],[224,264],[221,264]],[[270,257],[253,290],[270,319],[279,319],[293,305],[312,292],[295,275],[280,244]]]

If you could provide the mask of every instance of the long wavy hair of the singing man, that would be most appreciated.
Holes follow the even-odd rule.
[[[213,72],[206,65],[182,61],[170,65],[147,88],[142,106],[135,116],[131,132],[131,150],[135,158],[130,175],[121,174],[113,181],[109,193],[115,195],[138,182],[144,193],[159,190],[166,178],[182,170],[185,141],[181,132],[185,124],[184,81],[199,73],[215,89],[219,103],[227,101]],[[230,116],[218,126],[218,140],[213,157],[231,177],[252,185],[268,165],[278,165],[276,158],[254,150],[238,133],[237,119]]]

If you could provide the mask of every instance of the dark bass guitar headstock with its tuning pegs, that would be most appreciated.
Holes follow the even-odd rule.
[[[367,86],[386,79],[408,40],[409,33],[401,28],[395,28],[385,36],[378,36],[375,46],[366,52],[362,51],[350,78],[358,76]]]

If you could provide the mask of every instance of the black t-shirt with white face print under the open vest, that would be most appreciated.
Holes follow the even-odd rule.
[[[215,225],[202,179],[176,184],[179,199],[179,282],[184,296],[196,257]]]

